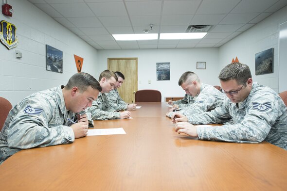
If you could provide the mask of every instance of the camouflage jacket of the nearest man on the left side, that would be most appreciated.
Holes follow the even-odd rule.
[[[74,133],[62,88],[44,90],[27,96],[9,112],[0,132],[0,163],[21,149],[72,143]]]

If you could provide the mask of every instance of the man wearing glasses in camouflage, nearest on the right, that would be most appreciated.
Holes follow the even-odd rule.
[[[200,140],[267,141],[287,150],[287,108],[281,97],[271,88],[253,82],[246,64],[228,64],[221,70],[219,80],[227,96],[222,107],[187,117],[175,113],[172,120],[176,132]],[[198,124],[224,125],[194,126]]]

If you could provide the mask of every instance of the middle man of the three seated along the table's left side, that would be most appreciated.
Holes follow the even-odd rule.
[[[125,119],[131,116],[129,111],[119,112],[114,109],[107,97],[107,93],[113,90],[117,80],[118,77],[112,71],[105,70],[100,74],[99,83],[102,91],[98,98],[93,101],[92,106],[86,110],[87,114],[90,113],[91,115],[90,123],[92,123],[91,120]]]

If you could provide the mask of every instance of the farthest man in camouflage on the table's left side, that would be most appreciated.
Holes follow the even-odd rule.
[[[126,103],[119,95],[118,93],[118,88],[122,86],[122,84],[125,81],[125,76],[123,73],[116,71],[115,74],[118,77],[118,81],[116,82],[114,89],[111,90],[108,94],[107,97],[111,102],[111,105],[114,109],[116,110],[134,110],[136,108],[136,104],[128,104]]]

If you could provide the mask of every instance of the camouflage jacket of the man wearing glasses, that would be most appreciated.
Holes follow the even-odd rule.
[[[234,104],[225,99],[222,107],[189,116],[191,124],[223,124],[198,127],[199,139],[237,143],[267,141],[287,149],[287,108],[271,88],[254,82],[249,96]]]

